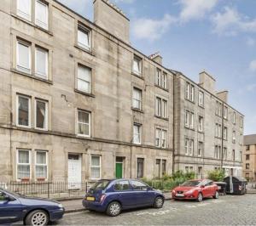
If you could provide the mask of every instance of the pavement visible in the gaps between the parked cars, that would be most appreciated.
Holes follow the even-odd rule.
[[[164,193],[166,200],[171,200],[171,192]],[[84,211],[84,206],[82,205],[83,199],[74,199],[69,201],[60,201],[65,208],[65,212],[81,212]]]

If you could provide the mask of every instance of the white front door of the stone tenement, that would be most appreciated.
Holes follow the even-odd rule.
[[[68,189],[81,188],[81,155],[68,154]]]

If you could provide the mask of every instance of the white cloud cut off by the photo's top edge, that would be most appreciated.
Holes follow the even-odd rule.
[[[186,22],[203,18],[216,6],[218,0],[179,0],[178,3],[182,5],[180,20]]]

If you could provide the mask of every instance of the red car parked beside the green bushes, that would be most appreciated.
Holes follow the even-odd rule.
[[[218,199],[218,185],[209,179],[189,180],[172,190],[173,200],[196,200],[213,197]]]

